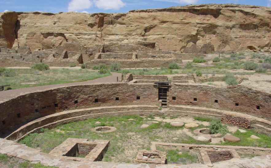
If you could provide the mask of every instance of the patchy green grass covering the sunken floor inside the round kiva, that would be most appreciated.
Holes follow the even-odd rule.
[[[165,116],[161,117],[165,118]],[[176,118],[173,116],[172,118]],[[195,117],[198,121],[213,121],[213,119]],[[99,124],[95,124],[99,121]],[[56,126],[56,128],[48,130],[42,130],[42,134],[30,134],[26,136],[20,143],[27,144],[32,148],[38,148],[42,152],[49,153],[56,146],[60,145],[67,138],[82,138],[89,141],[94,140],[110,140],[110,147],[104,155],[103,161],[105,162],[125,162],[134,163],[137,152],[140,149],[150,149],[151,142],[167,142],[167,143],[184,143],[184,144],[210,144],[209,142],[196,141],[194,138],[188,136],[183,132],[184,126],[172,127],[170,123],[159,121],[158,123],[151,123],[153,116],[113,116],[113,117],[101,117],[97,119],[88,119],[86,121],[71,122],[64,125]],[[142,124],[149,124],[147,128],[140,128]],[[117,128],[114,132],[109,133],[97,133],[92,131],[96,126],[114,126]],[[203,128],[199,124],[197,128]],[[193,132],[193,129],[190,129]],[[259,134],[253,133],[258,136]],[[237,135],[239,137],[239,135]],[[259,135],[264,137],[261,139],[262,143],[258,143],[259,140],[251,140],[245,146],[252,145],[264,147],[269,146],[271,143],[271,137],[267,135]],[[174,138],[174,139],[173,139]],[[177,139],[176,139],[177,138]],[[246,141],[241,141],[241,144],[222,144],[222,145],[242,145]]]

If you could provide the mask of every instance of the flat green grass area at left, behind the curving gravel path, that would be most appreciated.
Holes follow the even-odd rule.
[[[96,71],[90,71],[87,69],[70,70],[65,68],[46,71],[14,69],[14,71],[16,73],[14,77],[0,76],[0,85],[11,85],[10,87],[12,89],[17,89],[60,83],[82,82],[110,75],[99,74]]]

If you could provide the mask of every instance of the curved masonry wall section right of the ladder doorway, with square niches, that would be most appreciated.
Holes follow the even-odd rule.
[[[176,100],[172,100],[176,97]],[[197,101],[194,101],[194,98]],[[215,100],[218,103],[215,103]],[[191,105],[229,111],[239,111],[271,119],[271,95],[244,86],[205,86],[172,84],[168,92],[171,105]],[[236,106],[238,103],[238,106]],[[260,109],[257,109],[260,106]]]

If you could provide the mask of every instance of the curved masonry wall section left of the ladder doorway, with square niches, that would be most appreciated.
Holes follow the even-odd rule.
[[[127,83],[71,86],[29,93],[0,104],[0,134],[11,133],[25,123],[65,109],[155,105],[157,95],[158,90],[151,84]],[[140,100],[136,100],[137,96],[140,96]],[[116,101],[116,97],[119,97],[119,101]],[[98,99],[98,103],[95,103],[95,99]]]

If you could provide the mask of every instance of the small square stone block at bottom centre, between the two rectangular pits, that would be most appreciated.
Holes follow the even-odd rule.
[[[167,164],[167,152],[140,150],[135,159],[136,163]]]

